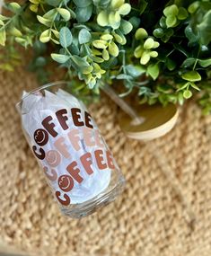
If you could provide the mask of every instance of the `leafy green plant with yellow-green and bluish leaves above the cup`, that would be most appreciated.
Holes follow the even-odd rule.
[[[182,104],[198,93],[211,110],[210,1],[29,0],[4,8],[3,69],[17,65],[19,44],[33,49],[31,70],[42,80],[55,61],[81,94],[121,80],[121,96],[136,92],[139,102]]]

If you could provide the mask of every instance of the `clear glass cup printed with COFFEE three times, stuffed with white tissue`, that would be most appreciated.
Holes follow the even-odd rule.
[[[23,93],[23,133],[66,216],[81,217],[114,200],[125,180],[84,103],[65,82]]]

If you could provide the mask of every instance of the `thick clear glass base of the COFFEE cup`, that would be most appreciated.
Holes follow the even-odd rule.
[[[97,197],[79,205],[74,205],[74,208],[61,208],[61,212],[65,216],[70,216],[74,218],[81,218],[84,216],[91,215],[93,212],[101,207],[108,205],[110,202],[114,201],[119,194],[124,190],[125,180],[119,181],[119,184],[107,193],[101,193]]]

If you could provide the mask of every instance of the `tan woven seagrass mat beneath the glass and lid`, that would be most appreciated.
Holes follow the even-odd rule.
[[[211,116],[203,117],[189,102],[176,128],[153,142],[194,212],[190,224],[150,146],[122,134],[117,106],[102,97],[92,105],[92,117],[124,172],[127,188],[114,203],[75,220],[60,214],[14,108],[23,89],[38,86],[35,77],[20,67],[0,72],[0,81],[0,252],[12,245],[13,251],[27,255],[211,254]]]

